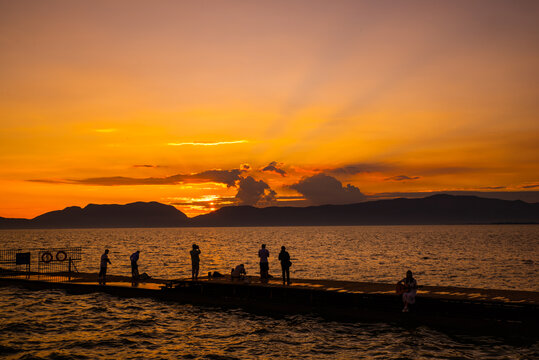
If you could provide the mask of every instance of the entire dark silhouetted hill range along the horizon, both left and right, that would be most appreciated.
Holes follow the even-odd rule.
[[[539,223],[539,203],[475,196],[433,195],[310,207],[228,206],[189,219],[170,205],[72,206],[34,219],[0,218],[0,229],[185,226],[434,225]]]

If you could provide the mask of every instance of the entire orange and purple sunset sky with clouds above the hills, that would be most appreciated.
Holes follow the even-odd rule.
[[[539,201],[539,1],[0,1],[0,216]]]

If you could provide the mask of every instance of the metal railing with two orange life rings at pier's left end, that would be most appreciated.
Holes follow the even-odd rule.
[[[70,281],[81,260],[81,247],[0,249],[0,277]]]

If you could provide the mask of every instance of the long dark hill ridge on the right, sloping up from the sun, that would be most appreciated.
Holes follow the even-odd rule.
[[[433,195],[303,208],[230,206],[197,216],[190,223],[195,226],[539,223],[539,203]]]

